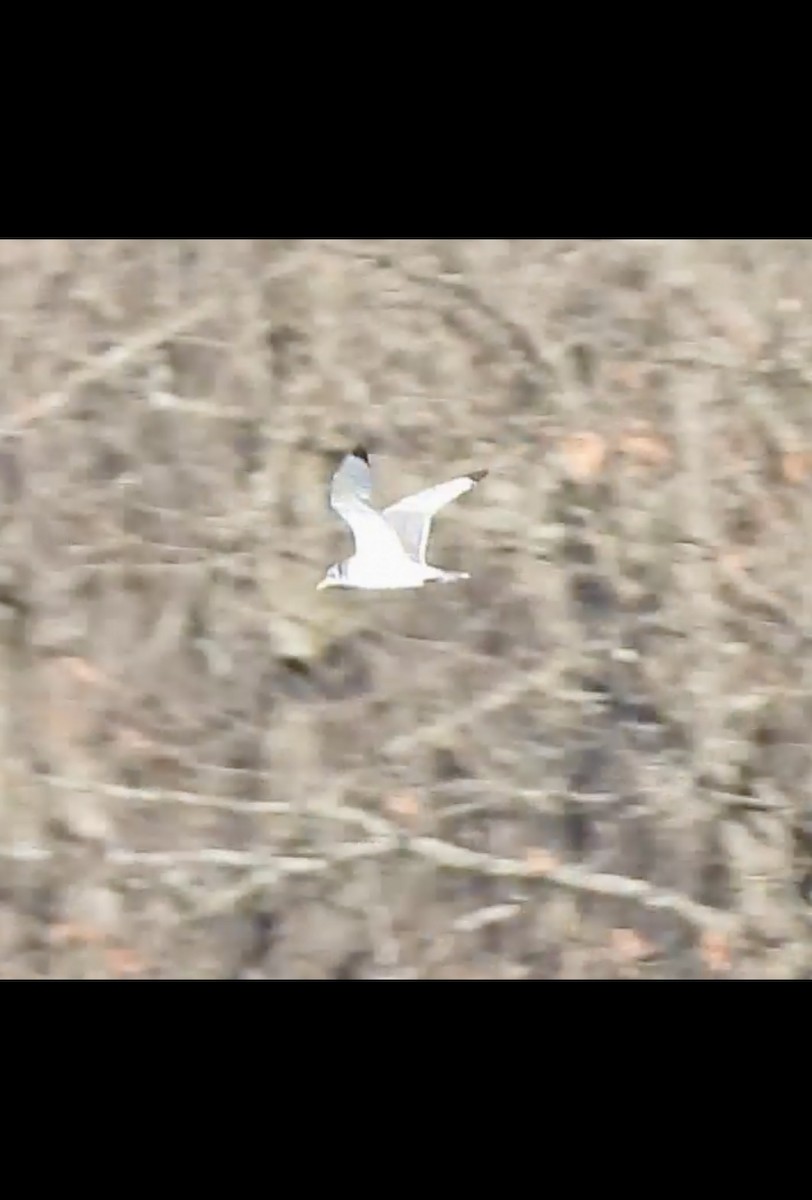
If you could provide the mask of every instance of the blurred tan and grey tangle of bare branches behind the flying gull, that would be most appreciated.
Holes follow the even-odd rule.
[[[0,242],[0,973],[812,976],[811,241]],[[475,468],[429,560],[315,592]]]

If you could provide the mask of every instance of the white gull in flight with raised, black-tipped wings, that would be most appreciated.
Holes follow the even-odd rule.
[[[372,474],[363,446],[356,446],[332,476],[330,506],[353,532],[355,553],[330,568],[319,588],[421,588],[432,580],[467,580],[464,571],[444,571],[426,562],[432,517],[450,500],[487,475],[475,470],[407,496],[377,512],[369,504]]]

